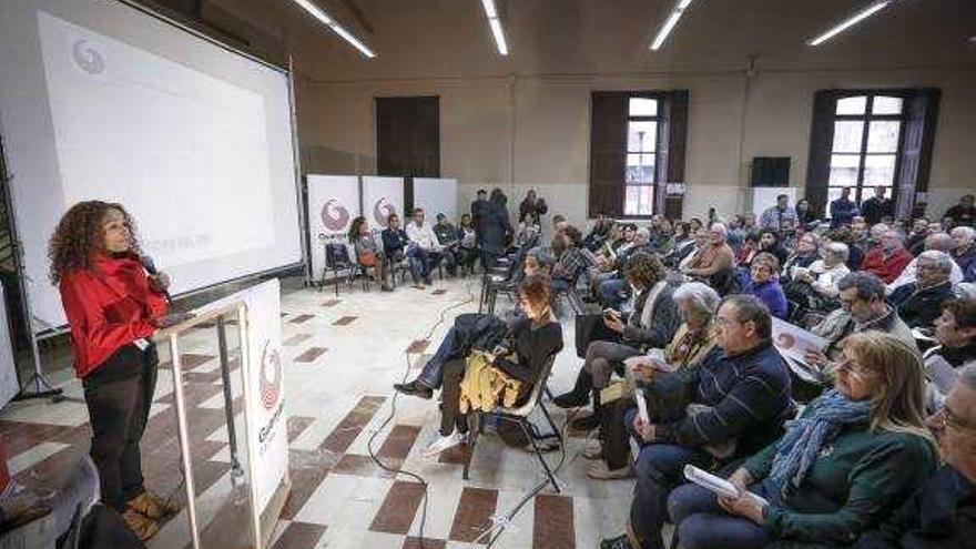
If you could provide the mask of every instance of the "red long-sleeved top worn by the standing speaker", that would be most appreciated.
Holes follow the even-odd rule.
[[[134,255],[99,254],[90,271],[61,276],[61,304],[74,340],[74,370],[85,377],[115,350],[155,332],[166,313],[163,294],[150,288]]]

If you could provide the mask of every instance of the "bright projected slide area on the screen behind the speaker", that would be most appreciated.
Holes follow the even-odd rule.
[[[262,95],[38,20],[65,204],[121,202],[165,267],[274,246]]]

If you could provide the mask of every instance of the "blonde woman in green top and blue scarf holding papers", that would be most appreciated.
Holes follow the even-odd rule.
[[[880,332],[853,334],[843,347],[834,388],[729,478],[739,498],[697,485],[671,494],[683,548],[850,545],[935,470],[918,350]]]

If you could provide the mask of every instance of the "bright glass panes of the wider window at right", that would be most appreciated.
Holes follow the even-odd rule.
[[[834,110],[834,139],[831,146],[827,203],[851,187],[851,199],[860,203],[884,186],[894,195],[904,100],[883,94],[838,99]]]

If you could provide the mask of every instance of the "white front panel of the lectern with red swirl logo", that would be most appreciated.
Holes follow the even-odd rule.
[[[288,471],[281,286],[276,278],[271,279],[245,289],[242,296],[247,304],[244,406],[251,479],[258,512],[263,512]]]

